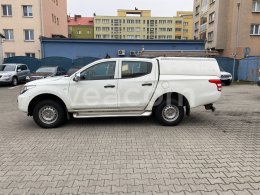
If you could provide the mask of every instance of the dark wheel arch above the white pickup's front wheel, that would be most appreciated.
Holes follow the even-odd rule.
[[[36,106],[36,104],[42,100],[54,100],[54,101],[57,101],[59,102],[64,108],[65,110],[67,110],[67,106],[66,104],[64,103],[64,101],[54,95],[54,94],[50,94],[50,93],[44,93],[44,94],[40,94],[40,95],[37,95],[35,96],[29,103],[29,106],[28,106],[28,115],[29,116],[32,116],[33,115],[33,109],[34,107]]]

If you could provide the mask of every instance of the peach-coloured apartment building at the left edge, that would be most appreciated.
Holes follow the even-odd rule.
[[[67,37],[66,0],[1,0],[4,57],[41,57],[39,38]]]

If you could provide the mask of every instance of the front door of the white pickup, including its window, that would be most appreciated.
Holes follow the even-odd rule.
[[[80,81],[70,82],[72,109],[100,110],[117,108],[116,61],[88,66],[80,73]]]

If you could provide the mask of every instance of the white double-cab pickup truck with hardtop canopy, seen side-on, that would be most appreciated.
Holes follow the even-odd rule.
[[[18,107],[42,128],[70,117],[154,116],[174,126],[190,109],[221,97],[220,69],[210,58],[111,58],[93,62],[70,77],[27,83]]]

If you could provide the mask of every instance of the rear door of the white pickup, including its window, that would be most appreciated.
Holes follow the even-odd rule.
[[[121,60],[118,108],[144,110],[154,93],[157,71],[157,64],[153,60]]]

